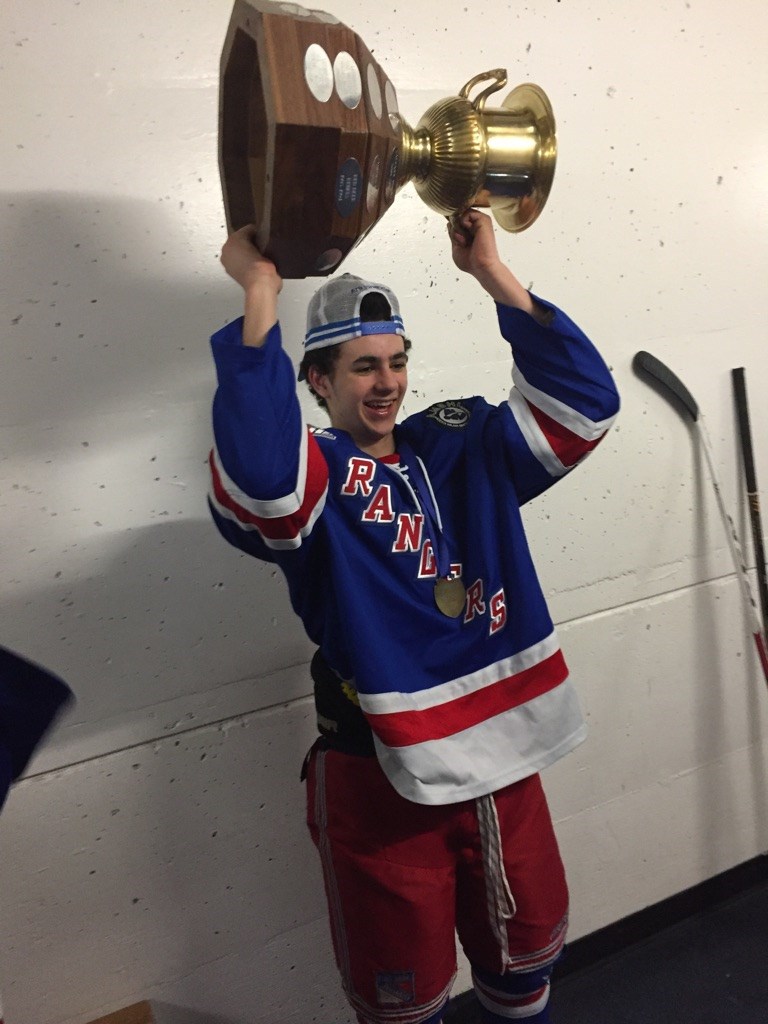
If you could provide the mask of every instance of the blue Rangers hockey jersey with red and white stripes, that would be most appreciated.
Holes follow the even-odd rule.
[[[214,520],[283,569],[308,636],[355,687],[388,778],[417,803],[494,792],[586,734],[520,506],[600,441],[618,399],[584,333],[542,304],[546,327],[498,306],[509,399],[408,417],[395,460],[303,422],[278,325],[261,348],[242,344],[242,321],[212,339]],[[455,618],[435,604],[438,555],[466,586]]]

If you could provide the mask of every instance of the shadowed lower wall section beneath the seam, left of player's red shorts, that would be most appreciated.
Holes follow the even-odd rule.
[[[9,1019],[84,1024],[96,1007],[159,998],[266,1024],[338,1001],[299,781],[313,717],[300,701],[12,792],[0,829]]]

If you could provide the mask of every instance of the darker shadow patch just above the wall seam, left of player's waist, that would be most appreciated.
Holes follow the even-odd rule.
[[[33,589],[19,581],[0,606],[17,646],[75,691],[49,737],[68,752],[53,763],[311,691],[311,647],[281,575],[229,549],[206,521],[128,528],[51,565],[58,579]]]

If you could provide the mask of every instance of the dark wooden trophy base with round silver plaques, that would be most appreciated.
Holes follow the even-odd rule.
[[[236,0],[222,55],[219,167],[227,227],[256,227],[284,278],[335,270],[398,180],[394,88],[330,14]]]

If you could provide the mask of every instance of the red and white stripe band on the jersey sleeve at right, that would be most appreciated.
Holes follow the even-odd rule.
[[[509,408],[528,447],[550,476],[563,476],[600,443],[611,423],[590,420],[529,384],[517,367]]]

